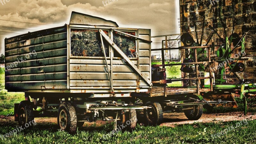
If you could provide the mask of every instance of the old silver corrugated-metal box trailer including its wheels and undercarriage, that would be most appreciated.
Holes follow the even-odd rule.
[[[150,39],[150,29],[78,12],[69,25],[6,38],[5,89],[26,99],[15,104],[15,121],[58,112],[58,125],[71,133],[98,119],[134,128],[135,109],[150,108],[131,97],[152,85]]]

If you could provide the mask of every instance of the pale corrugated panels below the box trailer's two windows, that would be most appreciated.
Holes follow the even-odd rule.
[[[110,59],[107,59],[110,68]],[[132,60],[137,65],[137,60]],[[123,60],[113,60],[113,86],[115,92],[135,92],[137,75],[124,64]],[[109,92],[110,83],[105,60],[96,58],[70,58],[70,89]]]

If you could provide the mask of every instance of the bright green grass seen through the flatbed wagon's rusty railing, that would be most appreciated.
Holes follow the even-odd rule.
[[[165,64],[174,64],[177,62],[164,62]],[[151,65],[161,65],[162,62],[152,62]],[[168,66],[166,67],[166,78],[174,79],[174,78],[180,78],[181,77],[181,71],[180,71],[180,65],[179,66]],[[181,81],[179,82],[172,82],[171,84],[168,84],[168,86],[181,86]]]

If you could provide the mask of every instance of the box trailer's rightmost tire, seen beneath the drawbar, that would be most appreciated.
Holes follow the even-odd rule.
[[[133,103],[131,101],[127,101],[128,105],[133,105]],[[129,112],[126,112],[125,114],[125,129],[124,130],[134,130],[137,124],[137,114],[136,114],[136,110],[135,109],[130,109]],[[129,121],[129,122],[128,122]],[[130,123],[130,124],[129,124]],[[123,130],[123,131],[124,131]]]

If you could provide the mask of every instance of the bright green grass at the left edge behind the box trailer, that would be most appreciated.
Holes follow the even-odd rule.
[[[7,92],[4,89],[4,68],[0,68],[0,115],[12,115],[14,103],[25,100],[23,92]]]

